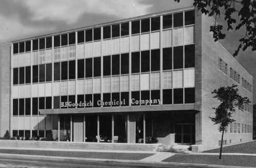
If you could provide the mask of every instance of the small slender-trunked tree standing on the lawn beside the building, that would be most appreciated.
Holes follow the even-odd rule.
[[[248,104],[250,100],[247,97],[242,97],[238,94],[237,85],[221,87],[218,90],[214,90],[211,93],[215,94],[214,98],[217,98],[221,103],[215,109],[215,117],[209,117],[214,124],[219,124],[219,131],[221,135],[221,148],[219,159],[221,159],[223,135],[228,124],[236,121],[232,119],[232,114],[235,111],[235,107],[243,110],[244,104]]]

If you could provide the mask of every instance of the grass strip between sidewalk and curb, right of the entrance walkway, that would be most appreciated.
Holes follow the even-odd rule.
[[[223,155],[222,159],[220,160],[219,155],[176,154],[163,161],[195,164],[219,164],[230,166],[256,166],[256,156]]]

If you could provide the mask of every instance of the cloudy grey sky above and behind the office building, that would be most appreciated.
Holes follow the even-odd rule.
[[[193,0],[0,0],[0,44],[27,37],[76,29],[124,18],[193,5]],[[218,22],[224,23],[224,16]],[[224,26],[226,29],[226,26]],[[226,32],[221,44],[233,54],[244,31]],[[241,51],[236,59],[254,76],[256,52]],[[256,85],[253,87],[255,91]],[[253,96],[256,103],[256,93]]]

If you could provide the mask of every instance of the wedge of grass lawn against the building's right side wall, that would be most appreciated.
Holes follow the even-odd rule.
[[[220,149],[213,149],[204,151],[206,153],[219,153]],[[249,143],[244,144],[238,144],[238,145],[232,145],[228,147],[222,148],[223,153],[253,153],[256,154],[256,141],[252,141]]]

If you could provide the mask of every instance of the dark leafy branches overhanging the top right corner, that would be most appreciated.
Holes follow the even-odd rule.
[[[174,1],[180,2],[180,0]],[[217,23],[223,9],[227,31],[233,30],[233,27],[236,31],[242,29],[242,27],[245,28],[245,35],[239,40],[240,44],[237,50],[234,51],[233,56],[238,55],[241,48],[243,51],[248,47],[251,47],[252,51],[256,50],[256,0],[194,0],[193,5],[205,15],[215,18],[214,25],[210,26],[210,32],[214,34],[215,41],[226,37],[222,33],[223,25]],[[237,21],[238,24],[233,26]]]

